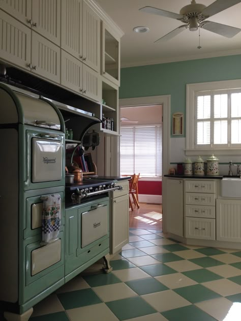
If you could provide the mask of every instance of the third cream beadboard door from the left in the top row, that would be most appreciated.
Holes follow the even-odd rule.
[[[83,0],[62,0],[61,47],[77,59],[82,59]]]

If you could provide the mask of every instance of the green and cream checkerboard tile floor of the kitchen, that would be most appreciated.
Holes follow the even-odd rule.
[[[240,321],[241,251],[130,229],[109,274],[82,273],[34,307],[31,321]]]

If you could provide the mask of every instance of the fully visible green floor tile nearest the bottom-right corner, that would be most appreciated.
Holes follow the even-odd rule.
[[[209,290],[209,288],[203,286],[202,284],[179,287],[175,288],[173,291],[191,303],[197,303],[221,297],[218,293]]]

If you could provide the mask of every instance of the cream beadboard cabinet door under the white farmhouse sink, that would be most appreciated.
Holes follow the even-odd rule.
[[[217,240],[241,241],[241,200],[217,200]]]

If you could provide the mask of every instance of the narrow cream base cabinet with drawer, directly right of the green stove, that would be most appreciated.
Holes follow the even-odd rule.
[[[111,192],[110,253],[118,252],[129,242],[129,181],[120,180],[123,189]]]

